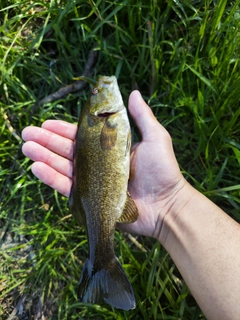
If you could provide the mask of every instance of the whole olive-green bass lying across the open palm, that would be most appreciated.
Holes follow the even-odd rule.
[[[115,308],[136,307],[130,281],[114,253],[116,223],[133,223],[138,209],[128,192],[131,131],[115,76],[101,76],[81,112],[73,152],[69,206],[86,226],[88,258],[78,299]]]

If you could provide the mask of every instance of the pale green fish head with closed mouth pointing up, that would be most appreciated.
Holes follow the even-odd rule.
[[[125,108],[115,76],[103,76],[98,79],[92,86],[89,105],[90,114],[99,118],[114,115]]]

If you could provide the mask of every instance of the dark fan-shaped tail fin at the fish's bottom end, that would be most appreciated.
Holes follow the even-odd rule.
[[[136,307],[132,286],[117,257],[100,270],[94,270],[87,260],[78,286],[79,301],[107,303],[115,308],[130,310]]]

